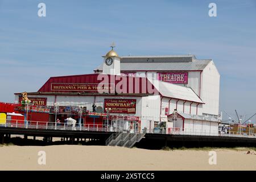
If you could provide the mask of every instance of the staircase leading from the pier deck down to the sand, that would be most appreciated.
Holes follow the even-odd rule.
[[[146,134],[146,129],[143,133],[114,133],[106,140],[106,146],[119,146],[131,148],[136,142],[141,141],[141,139]]]

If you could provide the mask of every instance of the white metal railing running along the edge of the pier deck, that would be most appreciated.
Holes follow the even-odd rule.
[[[57,122],[43,122],[43,121],[24,121],[17,119],[7,119],[6,122],[0,127],[15,127],[23,129],[44,129],[44,130],[74,130],[74,131],[105,131],[105,132],[115,132],[110,137],[117,138],[120,133],[122,133],[123,128],[119,126],[111,125],[98,125],[98,124],[79,124],[68,125],[68,123],[57,123]],[[130,133],[134,133],[131,132]],[[230,133],[219,133],[217,130],[198,130],[198,129],[182,129],[182,128],[164,128],[155,127],[151,130],[144,130],[146,133],[158,133],[158,134],[171,134],[171,135],[199,135],[199,136],[223,136],[223,137],[242,137],[242,138],[256,138],[255,133],[245,133],[245,132],[235,132],[230,131]],[[143,132],[143,133],[144,133]],[[109,138],[106,142],[111,142],[113,138]]]

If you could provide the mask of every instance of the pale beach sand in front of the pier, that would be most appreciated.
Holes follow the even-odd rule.
[[[209,151],[217,164],[210,165]],[[145,150],[110,146],[1,146],[0,170],[256,170],[256,152],[240,150]],[[38,152],[46,152],[46,165]]]

